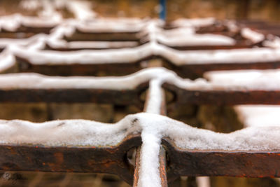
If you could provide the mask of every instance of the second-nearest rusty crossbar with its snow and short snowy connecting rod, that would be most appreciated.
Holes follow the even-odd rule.
[[[101,102],[128,104],[148,88],[145,111],[165,111],[163,88],[176,94],[177,102],[193,104],[279,104],[280,80],[278,71],[270,76],[239,76],[240,81],[207,81],[183,79],[162,67],[148,68],[130,76],[117,77],[59,77],[40,74],[0,75],[1,102]],[[227,78],[223,78],[227,80]],[[238,78],[237,78],[238,79]],[[271,79],[274,82],[271,82]],[[262,86],[263,85],[263,86]],[[67,94],[68,93],[68,94]],[[18,97],[18,95],[21,97]],[[76,97],[75,95],[79,95]],[[102,95],[107,95],[105,99]],[[118,96],[118,97],[113,97]],[[269,99],[267,99],[269,97]],[[162,113],[163,114],[163,113]]]

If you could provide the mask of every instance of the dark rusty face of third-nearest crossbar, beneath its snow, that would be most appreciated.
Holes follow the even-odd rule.
[[[219,48],[219,46],[216,46]],[[221,47],[221,46],[220,46]],[[122,76],[132,74],[144,68],[141,62],[157,58],[155,56],[144,57],[137,62],[113,63],[113,64],[69,64],[69,65],[34,65],[20,57],[16,57],[19,72],[34,72],[49,76]],[[279,69],[280,62],[230,62],[230,63],[205,63],[183,64],[177,66],[163,57],[164,67],[172,69],[183,78],[201,77],[207,71],[239,70],[239,69]],[[94,60],[92,60],[94,62]]]

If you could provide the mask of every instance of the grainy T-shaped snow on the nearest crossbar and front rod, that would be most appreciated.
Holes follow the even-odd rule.
[[[188,150],[276,151],[280,127],[248,127],[229,134],[197,129],[152,113],[129,115],[116,124],[90,120],[55,120],[31,123],[0,120],[1,144],[47,146],[116,146],[128,135],[141,133],[143,146],[139,186],[160,186],[160,139],[168,137]]]

